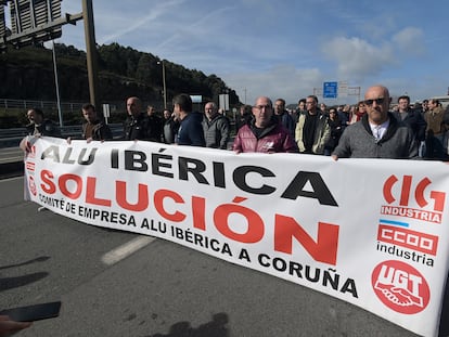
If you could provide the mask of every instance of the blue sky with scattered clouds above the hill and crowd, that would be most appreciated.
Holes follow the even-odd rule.
[[[94,0],[97,43],[118,42],[206,75],[216,74],[248,104],[259,95],[287,103],[324,81],[354,93],[376,83],[412,102],[449,87],[449,2],[440,0]],[[64,0],[63,13],[81,12]],[[84,25],[56,42],[85,50]],[[192,93],[196,94],[196,93]],[[119,98],[117,98],[119,99]]]

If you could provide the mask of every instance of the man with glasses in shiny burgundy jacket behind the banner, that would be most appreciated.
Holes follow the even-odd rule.
[[[232,146],[241,152],[298,152],[295,140],[288,130],[273,116],[269,98],[258,98],[253,106],[254,119],[240,128]]]

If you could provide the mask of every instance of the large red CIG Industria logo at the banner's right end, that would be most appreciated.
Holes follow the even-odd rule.
[[[403,176],[401,180],[390,176],[384,183],[387,205],[381,207],[381,213],[441,223],[446,193],[433,191],[428,178],[414,180],[412,176]]]

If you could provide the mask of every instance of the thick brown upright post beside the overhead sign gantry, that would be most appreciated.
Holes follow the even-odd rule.
[[[90,103],[99,108],[100,99],[98,92],[98,61],[97,61],[97,43],[95,29],[93,25],[93,8],[92,0],[82,0],[82,17],[85,22],[86,37],[86,61],[89,78]]]

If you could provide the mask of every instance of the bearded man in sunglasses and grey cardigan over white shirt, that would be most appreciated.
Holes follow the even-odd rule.
[[[332,157],[410,159],[418,157],[413,131],[389,112],[388,89],[370,87],[364,94],[367,114],[348,126]]]

